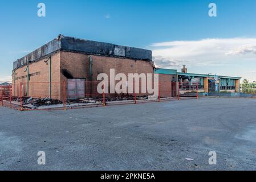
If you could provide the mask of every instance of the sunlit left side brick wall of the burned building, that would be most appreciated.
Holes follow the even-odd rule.
[[[29,97],[48,97],[49,96],[49,64],[44,63],[48,59],[42,59],[29,64]],[[49,62],[48,62],[49,63]],[[51,56],[51,79],[52,79],[52,98],[59,99],[60,96],[60,53]],[[22,82],[22,95],[27,95],[27,66],[19,68],[12,76],[13,96],[18,97],[20,93],[20,83]]]

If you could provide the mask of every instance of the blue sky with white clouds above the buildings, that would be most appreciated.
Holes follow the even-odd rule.
[[[208,16],[211,2],[217,17]],[[10,79],[13,61],[59,34],[152,49],[158,67],[256,81],[255,9],[255,0],[1,0],[0,81]]]

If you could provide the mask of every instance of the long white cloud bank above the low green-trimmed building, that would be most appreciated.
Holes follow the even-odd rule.
[[[153,43],[155,64],[164,68],[220,66],[255,61],[255,38],[202,39]]]

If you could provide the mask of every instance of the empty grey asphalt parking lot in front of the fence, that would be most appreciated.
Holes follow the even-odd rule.
[[[67,111],[0,107],[0,170],[255,170],[255,108],[256,100],[243,98]],[[46,165],[38,165],[38,151],[46,152]]]

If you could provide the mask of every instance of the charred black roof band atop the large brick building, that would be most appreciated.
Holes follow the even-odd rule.
[[[51,42],[48,42],[44,46],[36,49],[17,61],[14,61],[13,69],[24,67],[25,65],[38,61],[43,57],[55,53],[56,51],[71,51],[86,53],[88,55],[103,55],[152,61],[152,51],[147,49],[119,46],[59,35],[58,38],[51,40]]]

